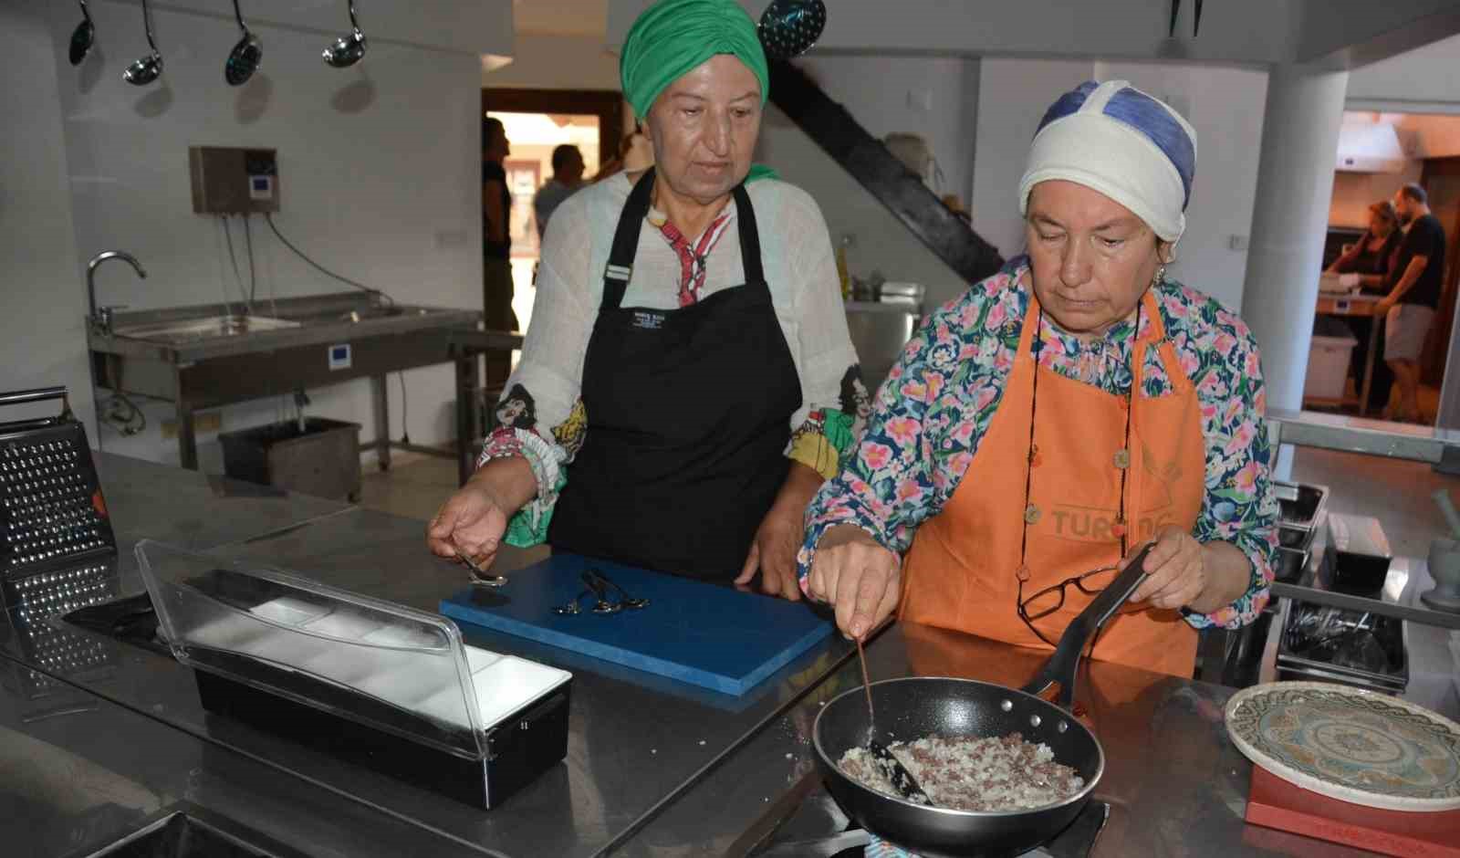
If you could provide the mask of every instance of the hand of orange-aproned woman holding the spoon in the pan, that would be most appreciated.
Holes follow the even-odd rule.
[[[888,619],[902,595],[902,563],[867,531],[838,524],[822,534],[806,576],[812,598],[837,608],[837,627],[861,641]]]

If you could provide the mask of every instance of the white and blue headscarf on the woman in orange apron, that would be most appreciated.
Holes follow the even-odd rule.
[[[1045,111],[1019,179],[1019,213],[1034,185],[1066,179],[1115,200],[1174,242],[1186,232],[1194,177],[1190,123],[1124,80],[1089,80]]]

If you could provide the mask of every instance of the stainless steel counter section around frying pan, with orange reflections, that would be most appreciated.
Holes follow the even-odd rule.
[[[958,676],[1018,687],[1040,665],[1041,660],[1029,651],[912,625],[892,626],[867,646],[873,681]],[[745,854],[756,845],[756,830],[791,810],[778,801],[815,769],[810,737],[821,705],[860,684],[860,668],[845,664],[610,854],[616,858]],[[1228,740],[1222,722],[1222,708],[1232,693],[1222,686],[1115,664],[1082,668],[1076,696],[1088,709],[1088,724],[1107,760],[1095,798],[1111,804],[1110,823],[1094,854],[1099,858],[1371,855],[1242,822],[1253,766]]]

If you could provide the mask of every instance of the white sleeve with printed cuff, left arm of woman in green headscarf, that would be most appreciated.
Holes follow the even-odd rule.
[[[548,226],[533,324],[477,458],[482,467],[520,455],[533,468],[537,496],[512,517],[505,534],[518,547],[546,541],[552,509],[587,428],[580,393],[594,320],[587,295],[591,242],[585,209],[575,203],[561,204]]]

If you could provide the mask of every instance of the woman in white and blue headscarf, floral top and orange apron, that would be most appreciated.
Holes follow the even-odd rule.
[[[1257,346],[1165,274],[1196,133],[1123,80],[1048,109],[1019,185],[1028,255],[934,312],[807,511],[812,597],[1053,649],[1143,543],[1094,658],[1191,676],[1196,630],[1267,601],[1276,500]]]

